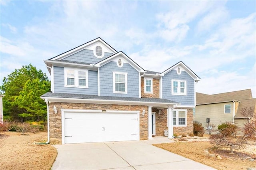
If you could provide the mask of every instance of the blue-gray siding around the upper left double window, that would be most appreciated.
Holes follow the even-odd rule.
[[[64,67],[54,66],[54,92],[84,95],[98,95],[98,71],[88,71],[88,89],[64,87]]]

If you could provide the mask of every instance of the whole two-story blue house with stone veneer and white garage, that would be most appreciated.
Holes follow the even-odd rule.
[[[146,71],[96,38],[44,62],[52,83],[52,92],[41,96],[51,143],[193,133],[194,84],[200,78],[182,61],[162,73]]]

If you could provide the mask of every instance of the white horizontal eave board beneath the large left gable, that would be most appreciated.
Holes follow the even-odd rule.
[[[52,61],[52,60],[44,60],[44,63],[46,65],[54,65],[57,67],[74,67],[74,68],[82,68],[82,69],[89,69],[89,70],[95,70],[97,71],[98,68],[95,67],[94,64],[79,64],[79,63],[69,63],[69,62],[63,62],[63,61]]]

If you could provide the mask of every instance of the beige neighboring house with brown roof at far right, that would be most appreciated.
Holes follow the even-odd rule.
[[[252,117],[243,114],[250,108],[251,113],[256,114],[256,99],[252,99],[251,89],[214,95],[196,93],[196,110],[193,119],[202,123],[206,132],[208,132],[207,118],[210,118],[210,125],[215,125],[215,129],[226,121],[242,128]]]

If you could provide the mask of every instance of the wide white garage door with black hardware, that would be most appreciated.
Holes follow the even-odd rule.
[[[64,113],[64,143],[139,140],[137,113]]]

